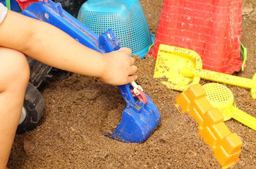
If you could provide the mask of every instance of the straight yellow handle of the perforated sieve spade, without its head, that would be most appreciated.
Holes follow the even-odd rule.
[[[232,106],[232,118],[256,131],[256,118]]]

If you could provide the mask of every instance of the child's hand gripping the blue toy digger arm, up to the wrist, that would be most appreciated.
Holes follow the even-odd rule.
[[[137,67],[133,65],[135,58],[130,57],[131,50],[121,48],[118,51],[112,51],[104,54],[105,65],[104,72],[99,77],[104,83],[123,85],[133,82],[137,79]]]

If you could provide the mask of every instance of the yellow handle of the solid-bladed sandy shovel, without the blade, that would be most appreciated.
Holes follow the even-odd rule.
[[[238,77],[235,75],[227,75],[225,73],[217,73],[211,70],[184,67],[181,69],[181,74],[185,77],[197,76],[205,80],[212,80],[214,82],[223,82],[247,89],[256,89],[256,80]]]

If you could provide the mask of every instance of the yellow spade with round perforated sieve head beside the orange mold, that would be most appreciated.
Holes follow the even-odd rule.
[[[228,87],[218,83],[207,83],[202,87],[205,89],[207,100],[213,107],[219,108],[219,111],[221,111],[224,121],[233,118],[243,123],[243,125],[256,130],[256,118],[234,106],[233,94]]]

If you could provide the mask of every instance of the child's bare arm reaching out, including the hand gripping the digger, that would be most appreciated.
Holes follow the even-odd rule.
[[[13,11],[8,11],[0,24],[0,46],[21,51],[54,68],[99,77],[108,84],[126,84],[137,78],[130,49],[100,54],[48,23]]]

